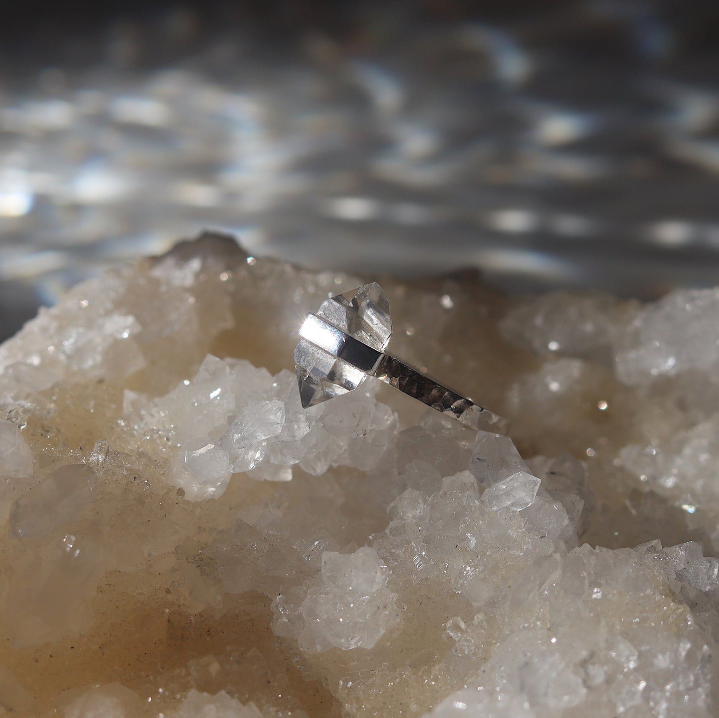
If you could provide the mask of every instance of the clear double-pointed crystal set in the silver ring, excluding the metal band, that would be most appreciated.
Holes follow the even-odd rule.
[[[383,351],[392,334],[390,303],[376,282],[325,300],[317,316],[363,344]],[[295,350],[304,408],[357,389],[365,372],[301,339]]]

